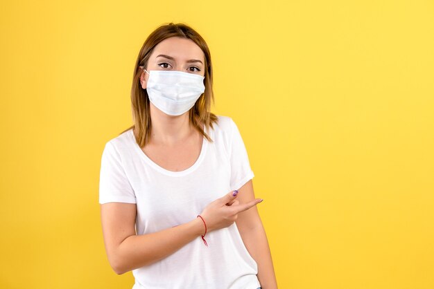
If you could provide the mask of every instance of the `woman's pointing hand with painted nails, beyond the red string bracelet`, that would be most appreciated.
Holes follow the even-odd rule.
[[[209,203],[200,213],[200,216],[207,223],[207,232],[229,227],[236,221],[238,213],[244,212],[262,201],[261,198],[256,198],[248,203],[240,204],[236,200],[237,195],[238,191],[229,192],[222,198]]]

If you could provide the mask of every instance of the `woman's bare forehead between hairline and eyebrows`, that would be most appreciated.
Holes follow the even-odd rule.
[[[158,55],[168,55],[177,60],[199,59],[205,61],[205,55],[200,47],[191,39],[170,37],[157,44],[150,55],[155,58]]]

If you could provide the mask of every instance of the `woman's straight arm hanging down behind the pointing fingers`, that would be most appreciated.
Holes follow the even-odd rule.
[[[248,203],[254,200],[252,180],[238,189],[238,201]],[[244,245],[258,264],[258,279],[262,289],[276,289],[277,281],[272,265],[270,247],[263,228],[257,206],[238,214],[236,226]]]

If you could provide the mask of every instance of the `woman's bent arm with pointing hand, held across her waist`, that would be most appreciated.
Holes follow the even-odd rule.
[[[200,214],[207,223],[207,231],[232,225],[238,213],[257,205],[259,198],[239,204],[233,192],[211,202]],[[116,274],[150,265],[173,254],[205,232],[200,218],[159,232],[136,235],[136,205],[105,203],[101,205],[101,222],[107,257]]]

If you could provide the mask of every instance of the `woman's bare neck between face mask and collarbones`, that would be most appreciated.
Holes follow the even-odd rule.
[[[190,124],[189,112],[182,115],[167,115],[150,104],[151,136],[154,143],[172,145],[191,136],[195,129]]]

